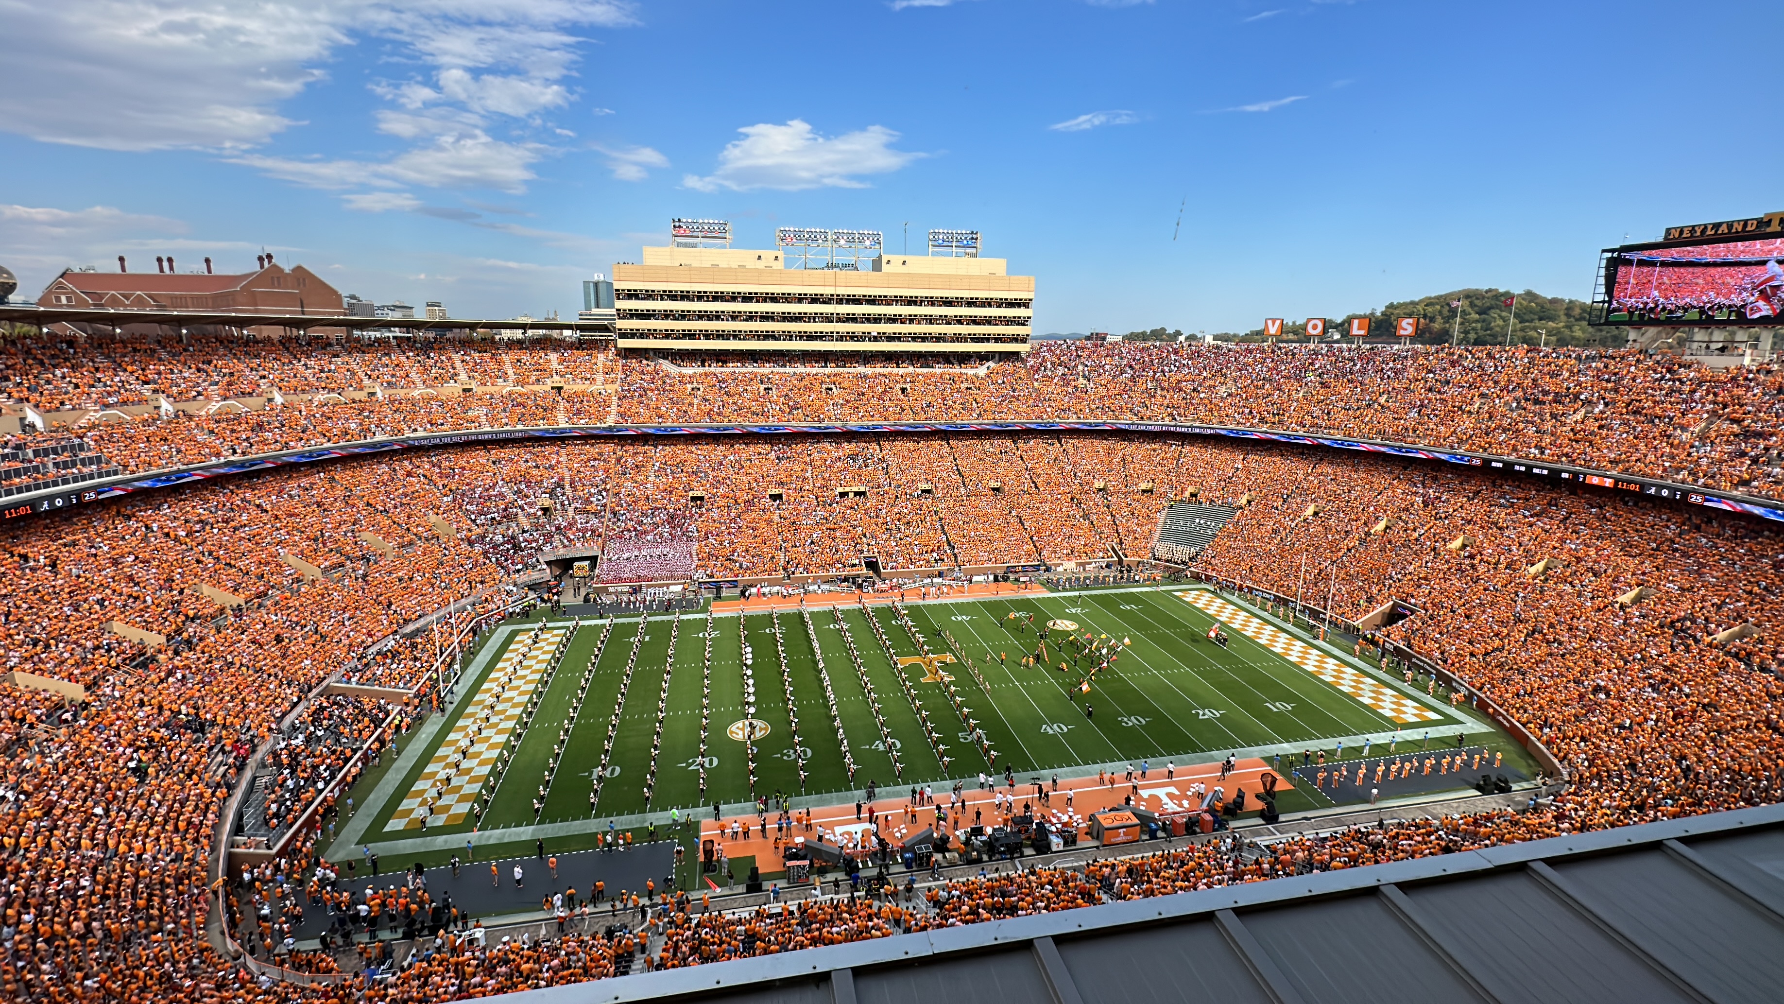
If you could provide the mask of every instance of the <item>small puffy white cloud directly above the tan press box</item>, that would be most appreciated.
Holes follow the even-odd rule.
[[[871,125],[826,139],[808,123],[746,125],[744,134],[719,152],[719,169],[712,175],[687,175],[681,184],[698,191],[803,191],[819,187],[863,189],[856,175],[897,171],[922,153],[892,150],[897,132]]]

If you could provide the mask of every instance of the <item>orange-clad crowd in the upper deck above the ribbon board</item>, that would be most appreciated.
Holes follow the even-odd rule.
[[[1675,294],[1689,298],[1657,296]],[[1784,310],[1784,285],[1772,298]],[[885,371],[689,369],[555,344],[43,337],[9,339],[0,358],[12,364],[0,396],[46,414],[109,408],[100,417],[118,421],[89,417],[45,439],[77,435],[127,471],[491,426],[1076,417],[1354,435],[1784,494],[1777,367],[1634,351],[1045,342],[1024,362]],[[478,392],[460,391],[473,383]],[[162,394],[246,403],[162,417],[148,407]],[[921,531],[917,510],[899,517]]]

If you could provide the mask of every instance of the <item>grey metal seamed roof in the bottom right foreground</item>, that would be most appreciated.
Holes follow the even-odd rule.
[[[1333,938],[1358,945],[1372,943],[1379,947],[1383,943],[1381,931],[1333,931],[1326,924],[1329,917],[1317,913],[1315,904],[1336,899],[1383,895],[1388,888],[1400,892],[1399,886],[1402,885],[1415,888],[1415,893],[1416,886],[1447,885],[1450,886],[1452,895],[1447,897],[1445,909],[1454,909],[1463,917],[1468,917],[1470,922],[1479,922],[1483,917],[1488,920],[1497,918],[1499,922],[1507,922],[1515,915],[1490,909],[1491,904],[1486,901],[1495,895],[1497,890],[1488,890],[1483,885],[1483,881],[1490,876],[1502,874],[1534,874],[1534,881],[1559,886],[1556,890],[1559,895],[1556,895],[1552,902],[1556,908],[1554,915],[1541,920],[1547,924],[1573,922],[1575,926],[1582,924],[1609,929],[1613,942],[1620,943],[1625,951],[1632,949],[1632,954],[1650,963],[1650,970],[1638,970],[1632,975],[1636,979],[1650,981],[1656,992],[1677,992],[1682,983],[1693,997],[1720,999],[1714,992],[1706,993],[1693,979],[1693,972],[1677,972],[1679,967],[1664,963],[1656,965],[1657,959],[1652,958],[1654,952],[1650,951],[1652,933],[1647,929],[1625,931],[1623,927],[1627,927],[1627,924],[1620,918],[1618,911],[1607,909],[1607,906],[1616,906],[1618,888],[1652,886],[1654,876],[1650,874],[1647,861],[1654,852],[1664,852],[1672,860],[1682,861],[1682,870],[1693,876],[1698,883],[1698,886],[1689,892],[1698,892],[1706,899],[1714,895],[1734,899],[1750,908],[1752,913],[1770,918],[1773,926],[1768,931],[1754,931],[1750,917],[1734,911],[1688,913],[1681,909],[1679,922],[1702,924],[1706,915],[1713,922],[1720,920],[1720,929],[1702,931],[1702,936],[1707,940],[1720,940],[1729,945],[1730,954],[1734,956],[1739,956],[1743,951],[1754,951],[1752,945],[1755,936],[1757,940],[1766,940],[1766,934],[1770,934],[1772,945],[1768,945],[1768,949],[1777,943],[1784,943],[1784,927],[1779,927],[1779,924],[1784,924],[1784,881],[1770,872],[1764,872],[1757,865],[1743,861],[1739,854],[1734,854],[1734,860],[1730,861],[1729,856],[1720,852],[1714,856],[1697,854],[1693,844],[1682,844],[1686,840],[1695,842],[1695,845],[1716,844],[1716,840],[1748,833],[1764,835],[1764,842],[1768,845],[1766,860],[1772,860],[1772,854],[1784,854],[1784,804],[1686,817],[1645,826],[1602,829],[1570,836],[1554,836],[1524,844],[1506,844],[1479,851],[1436,854],[1384,865],[1313,872],[1238,886],[1133,899],[1058,913],[1037,913],[1029,917],[990,920],[774,956],[526,990],[501,995],[500,1000],[508,1004],[567,1004],[573,1000],[628,1004],[635,1000],[680,1000],[696,997],[760,999],[756,995],[776,984],[789,984],[792,981],[828,983],[837,979],[838,983],[847,981],[853,984],[863,975],[871,979],[876,972],[899,972],[908,977],[908,970],[912,967],[919,970],[924,967],[947,967],[951,986],[958,990],[956,997],[960,999],[1006,999],[1006,995],[985,992],[997,981],[994,967],[979,970],[974,965],[963,965],[962,958],[972,959],[987,952],[1012,951],[1031,952],[1033,965],[1042,970],[1047,984],[1063,979],[1063,988],[1053,986],[1053,1000],[1056,1004],[1063,1000],[1081,1000],[1085,1004],[1103,1004],[1104,1000],[1111,1004],[1115,1000],[1145,1000],[1145,995],[1129,997],[1129,992],[1133,990],[1131,986],[1085,986],[1083,981],[1074,984],[1069,967],[1056,961],[1058,949],[1072,947],[1074,943],[1086,943],[1094,947],[1106,938],[1133,934],[1140,929],[1181,929],[1183,926],[1195,922],[1217,922],[1229,927],[1242,927],[1245,917],[1258,915],[1261,911],[1288,911],[1290,918],[1286,926],[1302,931],[1317,931],[1320,938]],[[1748,854],[1748,858],[1752,854]],[[1641,858],[1641,861],[1636,858]],[[1579,886],[1575,886],[1568,877],[1556,877],[1554,868],[1568,868],[1568,865],[1586,860],[1609,860],[1615,883],[1602,881],[1604,874],[1600,868],[1600,881],[1591,883],[1591,893],[1581,897],[1577,892]],[[1670,893],[1677,893],[1679,890],[1677,883],[1672,883],[1666,888]],[[1400,895],[1404,895],[1404,892],[1400,892]],[[1459,906],[1458,901],[1461,901]],[[1468,906],[1475,901],[1479,904],[1479,913],[1472,913],[1472,908]],[[1306,915],[1295,917],[1299,911],[1304,911]],[[1429,917],[1429,908],[1416,909],[1415,915]],[[1411,917],[1402,917],[1400,920],[1409,927],[1415,926]],[[1454,954],[1445,952],[1443,949],[1447,945],[1441,943],[1445,940],[1443,933],[1427,929],[1418,931],[1418,934],[1422,940],[1427,940],[1427,943],[1436,943],[1436,951],[1431,952],[1433,956],[1449,954],[1450,958],[1441,959],[1441,963],[1461,970],[1459,975],[1466,977],[1468,983],[1499,983],[1490,972],[1468,972],[1470,967],[1466,963],[1461,963],[1454,958]],[[1245,940],[1249,938],[1236,938],[1235,942]],[[1511,940],[1515,942],[1516,936]],[[1256,942],[1251,942],[1254,945],[1252,951],[1256,951]],[[1235,945],[1235,951],[1242,956],[1245,954],[1242,945]],[[1053,958],[1049,959],[1049,956]],[[1211,963],[1213,959],[1201,961]],[[1377,1004],[1379,1000],[1395,999],[1395,988],[1399,986],[1404,990],[1404,984],[1399,983],[1400,974],[1393,972],[1393,967],[1381,967],[1381,961],[1383,959],[1368,959],[1368,965],[1377,974],[1377,988],[1372,993],[1331,993],[1322,995],[1320,1000],[1354,999]],[[1525,954],[1507,961],[1515,961],[1518,967],[1540,968],[1579,965],[1581,959],[1577,956],[1568,958],[1566,952],[1554,952],[1549,959],[1532,959]],[[1299,997],[1293,993],[1277,995],[1276,990],[1279,988],[1274,986],[1277,979],[1286,977],[1290,983],[1297,984],[1302,981],[1317,983],[1324,979],[1324,974],[1320,972],[1293,972],[1292,959],[1288,961],[1288,967],[1284,967],[1283,958],[1265,959],[1265,967],[1252,967],[1252,977],[1265,984],[1261,990],[1277,999]],[[1716,965],[1716,961],[1706,959],[1704,965],[1711,967]],[[1784,961],[1779,965],[1784,965]],[[1290,972],[1284,974],[1283,968],[1290,968]],[[1260,974],[1258,970],[1265,970],[1265,974]],[[1270,970],[1276,970],[1274,975],[1268,975]],[[847,972],[847,977],[842,977],[844,972]],[[992,983],[987,984],[985,981]],[[828,997],[828,993],[822,993],[819,1000]],[[1488,1000],[1493,997],[1495,995],[1488,995]],[[1497,995],[1500,1000],[1506,997],[1507,995],[1504,993]],[[844,995],[837,993],[835,1000],[840,1004]]]

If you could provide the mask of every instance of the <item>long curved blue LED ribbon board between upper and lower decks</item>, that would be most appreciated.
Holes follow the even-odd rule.
[[[1491,453],[1454,451],[1434,446],[1413,446],[1404,442],[1384,442],[1370,439],[1347,439],[1331,435],[1308,435],[1295,432],[1258,430],[1245,426],[1213,424],[1177,424],[1177,423],[1136,423],[1136,421],[1094,421],[1094,419],[1058,419],[1058,421],[915,421],[915,423],[787,423],[787,424],[571,424],[571,426],[519,426],[519,428],[482,428],[457,432],[430,432],[389,439],[368,439],[359,442],[339,442],[312,446],[303,449],[284,449],[253,457],[235,457],[230,460],[212,460],[189,467],[171,467],[143,474],[118,474],[98,478],[78,485],[20,492],[0,498],[0,523],[71,506],[123,498],[127,494],[271,471],[296,464],[312,464],[337,457],[364,457],[396,449],[430,449],[439,446],[464,446],[471,442],[523,442],[523,440],[562,440],[608,435],[883,435],[883,433],[954,433],[954,432],[1152,432],[1176,435],[1222,435],[1231,439],[1252,439],[1263,442],[1288,442],[1293,446],[1326,446],[1331,449],[1352,449],[1399,457],[1406,460],[1441,460],[1483,471],[1506,474],[1525,474],[1561,483],[1586,483],[1602,489],[1622,489],[1647,498],[1702,505],[1723,512],[1739,512],[1784,523],[1784,501],[1757,496],[1739,496],[1716,492],[1695,485],[1675,481],[1656,481],[1650,478],[1631,478],[1609,471],[1573,467],[1568,464],[1545,464],[1540,460],[1522,460],[1516,457],[1499,457]]]

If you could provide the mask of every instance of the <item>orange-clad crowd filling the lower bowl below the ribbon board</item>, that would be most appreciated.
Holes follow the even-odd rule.
[[[460,942],[389,979],[262,988],[202,934],[214,902],[207,856],[225,797],[243,783],[239,751],[271,740],[318,683],[375,642],[500,585],[467,508],[482,505],[467,489],[485,471],[510,483],[557,471],[573,496],[599,489],[603,510],[685,508],[705,492],[701,564],[765,574],[897,553],[894,539],[913,519],[960,564],[1101,556],[1111,542],[1144,551],[1163,499],[1193,489],[1240,506],[1202,555],[1204,571],[1320,605],[1329,594],[1345,617],[1388,597],[1416,603],[1425,613],[1390,637],[1493,695],[1573,779],[1550,808],[1522,815],[1290,840],[1261,858],[1210,844],[1078,876],[965,881],[946,886],[946,899],[938,892],[933,909],[881,901],[764,915],[756,931],[747,920],[742,933],[715,931],[714,958],[1070,908],[1092,901],[1086,883],[1104,899],[1158,895],[1777,801],[1784,547],[1745,517],[1197,437],[649,440],[344,460],[0,533],[11,592],[0,662],[87,687],[84,704],[0,688],[0,747],[11,753],[0,767],[0,917],[11,933],[0,990],[23,1000],[428,1000],[608,972],[608,945],[574,936],[523,949]],[[853,485],[865,496],[838,498]],[[1754,631],[1714,640],[1741,624]],[[332,701],[314,713],[318,728],[366,724]],[[307,779],[298,763],[296,790],[326,763],[309,769]],[[287,842],[293,872],[309,872],[319,826]],[[255,911],[246,890],[232,909],[237,920]],[[721,922],[669,924],[690,934],[648,961],[706,961],[698,933]]]

